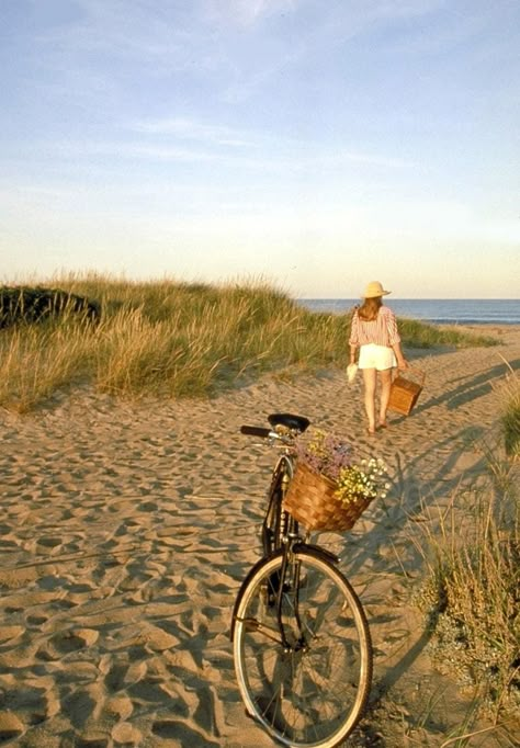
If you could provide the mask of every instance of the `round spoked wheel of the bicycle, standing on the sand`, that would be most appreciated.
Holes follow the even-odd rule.
[[[369,624],[347,578],[319,552],[298,548],[284,576],[282,622],[291,645],[284,649],[269,589],[270,580],[282,573],[283,558],[279,553],[259,562],[235,605],[234,659],[240,694],[248,714],[279,743],[334,748],[353,730],[369,698],[373,660]],[[302,628],[306,643],[297,649]]]

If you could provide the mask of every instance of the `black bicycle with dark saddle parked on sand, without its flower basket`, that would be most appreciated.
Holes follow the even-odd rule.
[[[372,681],[369,624],[339,558],[309,543],[283,499],[296,466],[295,443],[309,421],[269,416],[245,434],[281,447],[262,523],[263,557],[245,578],[230,637],[246,711],[292,748],[334,748],[358,724]]]

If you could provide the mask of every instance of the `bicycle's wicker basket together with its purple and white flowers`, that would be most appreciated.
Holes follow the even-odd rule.
[[[296,456],[284,509],[308,530],[350,530],[389,488],[382,460],[355,462],[350,444],[324,431],[301,439]]]

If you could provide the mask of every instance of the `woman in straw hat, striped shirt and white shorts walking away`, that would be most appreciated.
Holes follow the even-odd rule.
[[[386,410],[388,408],[392,385],[392,369],[408,369],[403,355],[397,322],[392,309],[383,306],[385,291],[378,281],[366,286],[363,304],[354,310],[350,333],[350,363],[355,363],[363,372],[364,407],[369,419],[369,434],[375,434],[376,428],[385,429]],[[381,383],[378,421],[376,423],[376,389]]]

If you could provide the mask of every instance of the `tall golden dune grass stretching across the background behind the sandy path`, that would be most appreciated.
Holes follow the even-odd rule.
[[[0,331],[0,405],[26,411],[88,383],[123,397],[200,397],[264,372],[344,366],[348,315],[306,310],[262,282],[132,282],[91,273],[41,285],[100,304],[101,322],[74,315]],[[488,344],[404,320],[405,347]]]

